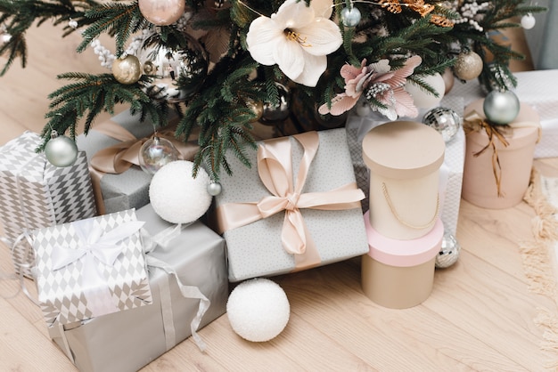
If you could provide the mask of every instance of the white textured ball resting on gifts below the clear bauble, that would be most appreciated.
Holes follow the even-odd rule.
[[[200,168],[192,176],[193,162],[177,160],[162,166],[153,175],[149,198],[160,218],[171,223],[196,221],[207,212],[211,195],[207,187],[209,175]]]

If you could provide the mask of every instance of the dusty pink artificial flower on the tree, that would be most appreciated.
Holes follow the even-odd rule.
[[[324,103],[318,112],[322,115],[341,115],[352,109],[364,93],[370,107],[390,120],[398,117],[416,117],[418,110],[414,106],[413,97],[406,92],[405,84],[406,77],[413,74],[414,68],[422,61],[421,57],[413,56],[401,69],[395,70],[391,70],[388,60],[367,66],[364,60],[359,68],[344,65],[341,68],[341,77],[345,79],[345,92],[332,99],[331,108]]]

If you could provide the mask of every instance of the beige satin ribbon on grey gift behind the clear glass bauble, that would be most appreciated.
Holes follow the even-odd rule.
[[[131,166],[139,166],[139,150],[149,137],[137,139],[130,133],[112,121],[105,121],[96,124],[92,130],[103,133],[115,140],[120,141],[108,148],[97,151],[89,161],[89,173],[95,204],[98,214],[105,214],[106,210],[103,202],[103,192],[101,190],[101,179],[104,174],[121,174],[126,172]],[[182,142],[175,138],[174,130],[171,127],[164,128],[157,132],[158,136],[165,138],[175,145],[184,160],[192,160],[199,146],[193,142]]]

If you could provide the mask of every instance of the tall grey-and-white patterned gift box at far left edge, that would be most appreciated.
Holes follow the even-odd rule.
[[[35,262],[29,231],[96,214],[86,153],[79,151],[72,166],[56,167],[35,152],[40,142],[25,132],[0,147],[0,222],[8,244],[17,241],[15,270],[29,278]]]

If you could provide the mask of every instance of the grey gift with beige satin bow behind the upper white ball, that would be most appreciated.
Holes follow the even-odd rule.
[[[139,166],[139,150],[153,129],[148,119],[141,122],[139,115],[124,111],[111,120],[93,125],[87,135],[78,136],[78,149],[85,150],[90,160],[100,214],[140,208],[149,203],[152,174],[145,173]],[[193,158],[197,146],[175,140],[172,129],[168,132],[165,138],[173,141],[182,157]]]

